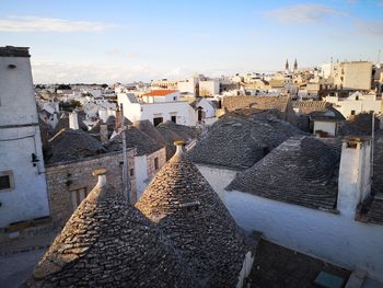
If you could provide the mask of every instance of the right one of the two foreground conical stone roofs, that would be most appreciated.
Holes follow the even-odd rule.
[[[197,270],[206,287],[235,287],[244,239],[198,169],[179,151],[136,204]]]

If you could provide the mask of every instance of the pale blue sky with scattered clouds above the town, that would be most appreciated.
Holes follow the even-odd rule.
[[[376,62],[383,0],[0,0],[5,45],[31,47],[35,83]]]

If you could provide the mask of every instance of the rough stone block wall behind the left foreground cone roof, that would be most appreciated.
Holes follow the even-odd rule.
[[[128,175],[130,168],[135,166],[134,150],[128,150]],[[50,216],[54,224],[63,226],[72,215],[74,208],[72,204],[72,192],[85,188],[90,193],[97,183],[97,177],[92,175],[92,171],[98,168],[107,170],[107,182],[123,189],[123,153],[112,152],[83,159],[81,161],[70,161],[55,163],[46,166],[46,178],[49,195]],[[136,195],[136,176],[129,176],[131,184],[131,195]],[[131,197],[136,199],[136,197]]]

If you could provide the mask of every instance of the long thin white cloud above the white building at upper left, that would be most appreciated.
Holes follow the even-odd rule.
[[[8,16],[0,19],[0,31],[4,32],[100,32],[115,26],[115,24],[103,22],[56,18]]]

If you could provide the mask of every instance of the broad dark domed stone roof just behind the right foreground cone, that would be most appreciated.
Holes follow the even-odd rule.
[[[243,115],[231,112],[216,122],[188,152],[189,158],[196,163],[246,169],[289,137],[305,135],[272,112],[251,111]]]

